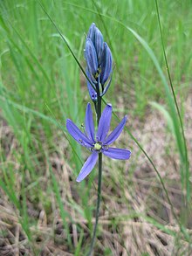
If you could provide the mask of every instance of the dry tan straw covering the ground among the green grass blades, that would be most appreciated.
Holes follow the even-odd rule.
[[[192,101],[190,97],[185,102],[185,109],[185,129],[189,142],[189,159],[191,160]],[[180,216],[183,212],[183,205],[178,156],[174,150],[173,137],[167,132],[165,121],[160,114],[151,112],[147,114],[145,122],[132,121],[131,126],[135,137],[144,145],[144,149],[147,150],[149,156],[152,156],[155,165],[160,170],[176,214]],[[5,161],[1,165],[9,166],[11,164],[14,167],[17,180],[17,186],[14,190],[17,191],[19,196],[22,187],[21,166],[13,152],[17,151],[17,153],[22,154],[22,149],[19,148],[11,128],[7,127],[3,121],[1,121],[0,138],[1,150],[6,155]],[[83,218],[82,214],[75,211],[72,204],[70,204],[72,200],[79,202],[79,195],[77,194],[76,184],[74,186],[74,182],[71,180],[73,170],[63,158],[63,152],[67,150],[67,143],[64,138],[57,140],[56,137],[55,139],[58,151],[52,152],[51,150],[49,159],[61,189],[62,202],[66,205],[65,209],[73,219],[73,223],[69,218],[66,219],[70,225],[72,243],[73,246],[78,245],[78,240],[81,237],[79,226],[81,226],[84,230],[82,244],[88,245],[90,233],[86,218]],[[130,140],[126,134],[121,136],[120,142],[125,146],[130,145]],[[140,154],[135,145],[133,145],[132,151],[131,161],[126,163],[108,161],[105,158],[99,237],[95,255],[110,255],[107,252],[124,256],[191,255],[192,250],[189,244],[182,239],[170,205],[164,196],[154,170],[151,169],[146,158]],[[67,238],[54,194],[51,192],[46,195],[46,190],[44,190],[47,183],[51,183],[48,163],[44,162],[42,166],[45,169],[45,176],[39,177],[37,188],[42,190],[45,198],[49,197],[50,206],[48,205],[49,207],[47,206],[45,209],[43,202],[38,201],[37,203],[36,200],[31,200],[31,197],[26,195],[27,213],[29,218],[33,220],[30,227],[31,243],[22,228],[19,212],[10,203],[4,191],[0,190],[1,255],[34,255],[34,252],[41,252],[39,255],[72,255],[72,253],[68,253]],[[25,171],[28,175],[28,170]],[[32,186],[30,176],[28,186]],[[20,200],[22,200],[22,197],[20,197]],[[87,204],[94,205],[95,201],[96,191],[93,187]],[[164,230],[161,227],[158,228],[154,223],[150,223],[147,218],[156,220],[164,227]],[[94,219],[92,219],[92,222],[94,222]],[[35,223],[38,223],[38,225]],[[191,218],[187,219],[187,226],[189,232],[192,232]]]

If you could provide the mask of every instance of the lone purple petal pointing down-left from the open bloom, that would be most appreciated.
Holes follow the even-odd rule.
[[[90,174],[90,172],[93,170],[96,162],[98,160],[98,153],[93,152],[91,156],[88,157],[86,160],[86,163],[84,163],[82,169],[80,170],[79,176],[77,177],[77,182],[81,182],[85,177]]]

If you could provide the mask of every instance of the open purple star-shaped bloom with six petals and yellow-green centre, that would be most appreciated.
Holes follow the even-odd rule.
[[[77,182],[81,182],[94,168],[97,163],[99,153],[103,153],[113,159],[126,160],[131,156],[131,152],[127,149],[116,149],[110,148],[112,144],[120,136],[126,121],[127,115],[120,121],[119,125],[114,128],[113,132],[107,136],[110,122],[112,117],[112,105],[107,104],[99,120],[98,131],[95,136],[94,123],[93,123],[93,112],[91,104],[88,103],[86,107],[86,129],[85,132],[81,130],[70,120],[66,121],[66,128],[70,135],[79,142],[82,146],[86,147],[92,152],[92,155],[88,157],[86,163],[84,163]]]

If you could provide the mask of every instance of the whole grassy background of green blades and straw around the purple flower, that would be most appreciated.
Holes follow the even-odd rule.
[[[189,233],[189,168],[178,114],[165,90],[168,74],[155,2],[40,3],[84,68],[85,33],[93,22],[102,31],[115,64],[105,100],[119,117],[129,115],[127,128],[154,159],[176,218]],[[159,5],[188,134],[192,6],[188,0]],[[66,133],[65,119],[79,126],[84,121],[90,100],[86,79],[37,1],[1,1],[0,37],[0,252],[85,255],[93,232],[97,169],[86,181],[75,182],[87,154]],[[128,131],[117,143],[132,149],[128,163],[104,160],[95,255],[189,255],[190,239],[180,231],[153,166]]]

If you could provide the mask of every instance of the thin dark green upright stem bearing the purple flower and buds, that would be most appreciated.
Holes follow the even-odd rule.
[[[97,122],[99,126],[99,119],[101,115],[101,97],[99,93],[99,80],[96,85],[97,89],[97,96],[98,96],[98,102],[97,102],[97,107],[96,107],[96,113],[97,113]],[[96,239],[96,233],[97,233],[97,227],[98,227],[98,222],[99,222],[99,208],[100,208],[100,199],[101,199],[101,180],[102,180],[102,153],[99,153],[99,177],[98,177],[98,198],[97,198],[97,209],[96,209],[96,217],[95,217],[95,224],[94,224],[94,229],[93,229],[93,238],[92,238],[92,243],[90,246],[89,253],[87,254],[88,256],[91,256],[93,253],[93,247]]]

